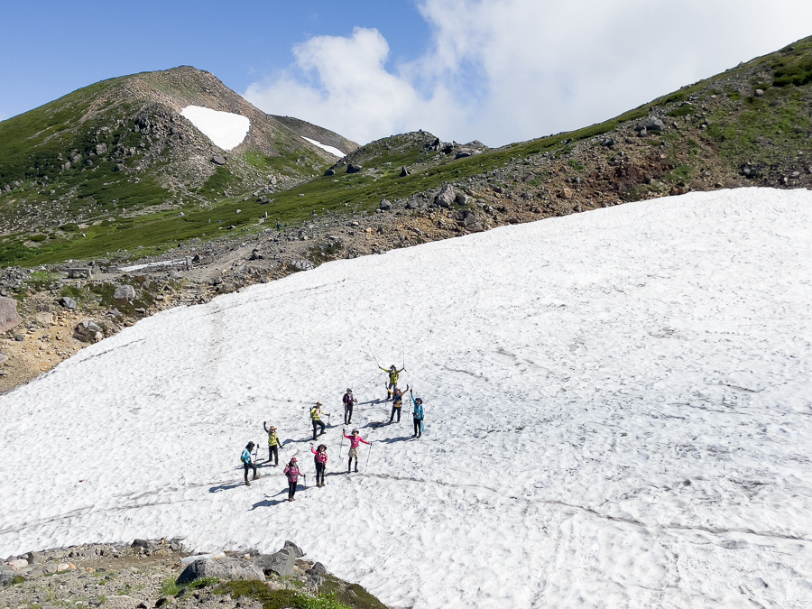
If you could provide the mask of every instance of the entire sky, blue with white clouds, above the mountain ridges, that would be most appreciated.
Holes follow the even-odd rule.
[[[0,119],[104,78],[208,69],[365,143],[589,125],[812,34],[808,0],[0,0]]]

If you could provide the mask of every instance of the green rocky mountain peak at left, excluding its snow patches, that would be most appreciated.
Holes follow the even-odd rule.
[[[189,105],[247,116],[245,141],[219,149],[180,115]],[[209,208],[229,196],[288,188],[336,161],[305,141],[307,134],[346,152],[357,148],[316,125],[265,115],[187,66],[79,89],[0,122],[0,235],[17,244],[0,249],[24,254],[23,236],[34,235],[33,244],[59,242],[74,226],[125,230],[161,210]]]

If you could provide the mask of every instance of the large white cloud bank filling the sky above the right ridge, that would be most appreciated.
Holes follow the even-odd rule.
[[[574,129],[808,35],[812,3],[424,0],[430,48],[397,67],[380,32],[318,36],[245,97],[359,142],[418,128],[490,145]]]

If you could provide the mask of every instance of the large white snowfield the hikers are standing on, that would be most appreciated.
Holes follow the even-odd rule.
[[[0,556],[294,540],[393,606],[809,607],[810,220],[808,191],[692,193],[146,318],[0,397]],[[382,425],[371,351],[405,359],[422,438]],[[242,485],[263,420],[312,473],[316,400],[327,486]]]

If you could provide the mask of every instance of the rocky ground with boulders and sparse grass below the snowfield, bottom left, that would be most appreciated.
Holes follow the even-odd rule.
[[[331,576],[286,542],[204,557],[180,540],[134,540],[32,551],[0,562],[0,607],[330,607],[386,609],[363,587]]]

